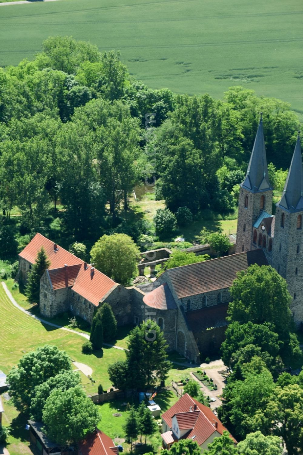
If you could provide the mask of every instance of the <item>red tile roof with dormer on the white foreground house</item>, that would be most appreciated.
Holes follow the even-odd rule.
[[[215,431],[218,431],[220,435],[227,431],[210,408],[199,403],[187,393],[162,415],[162,419],[169,428],[172,428],[174,416],[177,418],[180,430],[190,430],[183,437],[197,441],[198,445],[203,444]],[[236,442],[232,436],[231,438]]]

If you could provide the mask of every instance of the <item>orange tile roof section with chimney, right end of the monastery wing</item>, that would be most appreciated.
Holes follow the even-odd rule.
[[[90,266],[84,270],[84,266],[81,266],[72,289],[89,302],[98,306],[99,301],[104,298],[110,289],[116,286],[117,284],[112,279],[99,272],[99,270]]]

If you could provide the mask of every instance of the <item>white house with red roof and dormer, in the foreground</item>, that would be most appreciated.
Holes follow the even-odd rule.
[[[224,431],[227,431],[226,428],[213,411],[189,394],[184,394],[162,415],[161,438],[164,449],[169,449],[180,439],[194,440],[199,447],[207,449],[214,438],[222,436]]]

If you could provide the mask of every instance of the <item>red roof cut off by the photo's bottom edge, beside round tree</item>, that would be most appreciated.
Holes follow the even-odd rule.
[[[118,454],[118,447],[114,441],[100,430],[90,433],[79,444],[80,455],[114,455]]]

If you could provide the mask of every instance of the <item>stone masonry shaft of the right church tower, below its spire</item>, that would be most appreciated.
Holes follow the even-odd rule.
[[[303,233],[302,228],[297,229],[297,217],[303,217],[303,212],[285,211],[284,227],[281,227],[282,213],[283,210],[277,207],[272,265],[288,283],[292,297],[290,309],[294,322],[299,327],[303,322]]]

